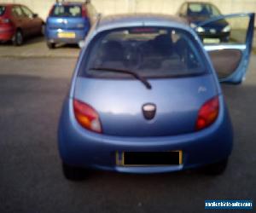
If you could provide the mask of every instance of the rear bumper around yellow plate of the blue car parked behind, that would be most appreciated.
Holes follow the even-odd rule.
[[[79,41],[83,41],[86,37],[89,29],[82,29],[82,30],[61,30],[61,29],[49,29],[48,27],[45,28],[45,37],[47,42],[49,43],[79,43]],[[71,38],[63,38],[59,37],[59,32],[74,32],[75,37]]]

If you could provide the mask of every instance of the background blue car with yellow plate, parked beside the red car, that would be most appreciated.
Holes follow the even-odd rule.
[[[96,10],[87,3],[57,2],[49,11],[45,26],[45,37],[49,49],[56,43],[81,43],[96,17]]]

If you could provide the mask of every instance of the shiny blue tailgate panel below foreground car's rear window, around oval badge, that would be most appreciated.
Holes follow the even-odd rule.
[[[74,97],[99,113],[105,135],[146,137],[194,132],[198,109],[217,94],[207,74],[194,79],[150,79],[149,83],[152,89],[134,79],[77,78]],[[148,103],[156,106],[149,121],[142,113]]]

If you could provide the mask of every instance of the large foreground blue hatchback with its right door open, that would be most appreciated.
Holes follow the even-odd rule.
[[[248,20],[245,43],[203,46],[189,25],[169,15],[97,20],[61,112],[58,141],[67,179],[83,179],[90,169],[224,171],[233,133],[218,81],[245,78],[254,14],[228,17]]]

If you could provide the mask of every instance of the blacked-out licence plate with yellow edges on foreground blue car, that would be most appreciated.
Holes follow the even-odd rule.
[[[183,152],[117,152],[116,164],[121,166],[179,165],[183,164]]]

